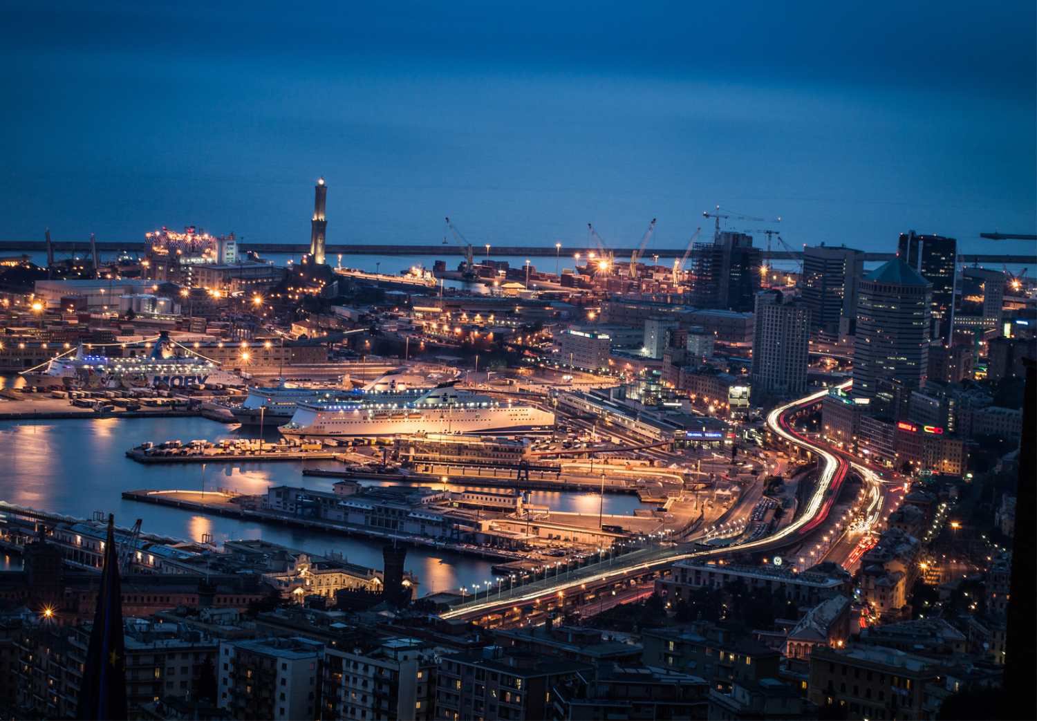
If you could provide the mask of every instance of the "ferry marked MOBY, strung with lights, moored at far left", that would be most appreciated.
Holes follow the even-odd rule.
[[[115,358],[91,355],[82,343],[74,356],[52,358],[41,371],[22,373],[31,386],[149,386],[187,388],[201,385],[239,386],[246,378],[220,368],[207,358],[176,355],[176,349],[163,331],[146,356]]]

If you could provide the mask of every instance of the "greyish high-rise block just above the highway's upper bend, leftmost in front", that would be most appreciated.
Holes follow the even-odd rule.
[[[802,394],[807,389],[810,309],[781,290],[756,295],[753,335],[754,403]]]

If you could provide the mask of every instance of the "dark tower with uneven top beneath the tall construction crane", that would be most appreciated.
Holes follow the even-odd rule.
[[[699,308],[752,310],[760,289],[760,249],[753,237],[723,231],[712,243],[695,244],[692,303]]]

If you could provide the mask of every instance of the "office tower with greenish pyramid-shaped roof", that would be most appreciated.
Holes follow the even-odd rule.
[[[925,382],[932,284],[899,257],[867,274],[857,303],[853,396],[875,398],[881,381]]]

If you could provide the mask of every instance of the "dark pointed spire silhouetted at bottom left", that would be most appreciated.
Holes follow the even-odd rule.
[[[79,690],[80,719],[107,721],[127,718],[125,638],[122,635],[122,591],[119,556],[115,548],[115,517],[108,516],[105,565],[101,572],[97,608],[93,614],[90,647],[86,653]]]

